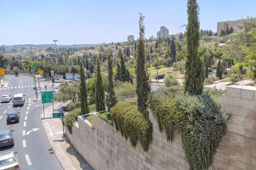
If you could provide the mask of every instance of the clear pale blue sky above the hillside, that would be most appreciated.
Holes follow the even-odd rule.
[[[160,26],[169,34],[184,32],[186,0],[1,0],[0,45],[92,44],[123,42],[139,36],[139,12],[145,15],[145,38]],[[217,22],[256,17],[255,0],[198,0],[200,28],[216,32]]]

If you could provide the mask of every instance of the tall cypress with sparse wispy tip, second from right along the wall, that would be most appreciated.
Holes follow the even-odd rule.
[[[150,92],[150,84],[145,69],[145,45],[144,45],[144,34],[145,26],[143,14],[140,13],[139,28],[140,28],[140,39],[138,40],[138,57],[137,57],[137,67],[136,67],[136,80],[137,87],[136,93],[138,96],[138,109],[140,111],[145,111],[147,109],[148,93]]]

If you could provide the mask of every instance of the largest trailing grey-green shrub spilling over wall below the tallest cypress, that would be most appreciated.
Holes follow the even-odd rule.
[[[204,92],[189,95],[171,87],[160,88],[149,96],[149,107],[167,140],[172,141],[174,128],[180,133],[190,170],[208,169],[226,130],[227,115],[222,113],[220,96],[224,91]]]

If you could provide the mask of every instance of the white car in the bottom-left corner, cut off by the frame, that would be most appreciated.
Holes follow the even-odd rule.
[[[0,170],[20,170],[17,152],[10,151],[0,154]]]

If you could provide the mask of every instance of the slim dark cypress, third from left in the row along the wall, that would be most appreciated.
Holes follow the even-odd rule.
[[[107,107],[108,111],[113,105],[117,103],[113,84],[113,66],[111,59],[111,51],[108,51],[108,94],[107,94]]]

